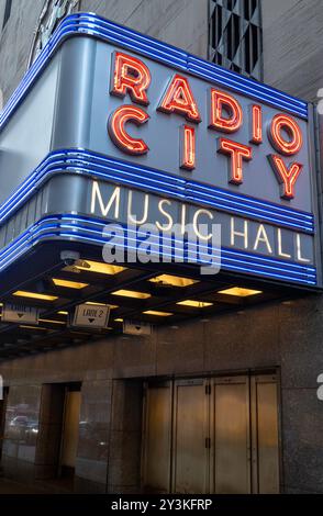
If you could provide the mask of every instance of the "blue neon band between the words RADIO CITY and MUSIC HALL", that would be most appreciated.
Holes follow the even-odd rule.
[[[191,201],[199,205],[277,224],[281,227],[309,234],[314,233],[314,217],[311,213],[280,206],[268,201],[259,201],[197,181],[188,181],[166,172],[108,158],[83,149],[51,153],[0,206],[0,223],[3,223],[21,207],[44,181],[53,175],[64,172],[101,178],[118,184],[166,194],[180,201]]]

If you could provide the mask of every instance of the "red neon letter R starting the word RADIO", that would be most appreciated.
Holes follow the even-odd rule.
[[[130,94],[134,102],[148,105],[147,89],[151,85],[151,72],[147,66],[136,57],[122,52],[112,55],[110,93],[118,97]]]

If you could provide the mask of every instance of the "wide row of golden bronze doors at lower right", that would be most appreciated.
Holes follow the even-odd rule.
[[[145,491],[279,492],[274,374],[149,382],[143,434]]]

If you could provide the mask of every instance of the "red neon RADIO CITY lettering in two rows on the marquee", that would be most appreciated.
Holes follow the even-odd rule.
[[[112,87],[110,93],[119,97],[129,96],[134,103],[149,104],[149,86],[152,74],[147,65],[137,57],[115,52],[111,68]],[[277,188],[280,197],[291,200],[296,195],[296,184],[302,171],[303,165],[297,160],[287,161],[286,157],[293,159],[303,145],[302,131],[290,115],[278,113],[271,120],[264,121],[263,109],[258,104],[252,104],[249,110],[250,133],[248,143],[240,142],[238,130],[243,126],[248,113],[244,113],[238,100],[231,93],[210,88],[205,102],[209,103],[208,131],[218,134],[218,153],[223,154],[229,160],[227,182],[240,186],[244,182],[245,162],[253,160],[253,146],[260,146],[264,142],[264,126],[267,124],[268,142],[272,152],[268,154],[268,164],[277,178]],[[156,108],[158,112],[168,115],[177,115],[188,122],[199,124],[202,121],[201,113],[204,106],[198,105],[190,80],[175,74],[164,92],[160,92],[160,101]],[[148,145],[143,138],[131,135],[131,124],[142,125],[148,123],[149,114],[135,105],[121,105],[110,115],[109,135],[112,142],[125,154],[143,155],[149,152]],[[194,126],[185,125],[180,131],[180,159],[178,167],[185,170],[193,170],[197,159],[197,138]],[[223,138],[221,133],[231,137]],[[235,136],[236,135],[236,136]],[[157,145],[157,143],[156,143]],[[215,142],[214,142],[215,148]],[[174,149],[176,152],[176,149]],[[214,152],[215,156],[215,152]],[[216,171],[214,170],[214,173]]]

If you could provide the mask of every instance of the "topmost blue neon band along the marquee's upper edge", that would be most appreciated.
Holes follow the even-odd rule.
[[[22,79],[0,115],[0,130],[8,122],[16,106],[38,78],[59,45],[74,35],[87,35],[100,38],[130,51],[140,53],[170,67],[216,82],[234,91],[246,94],[275,108],[287,110],[303,119],[308,117],[307,102],[288,93],[276,90],[253,79],[240,76],[218,65],[192,56],[166,43],[140,34],[91,13],[78,13],[66,16],[49,42],[44,47],[33,66]]]

